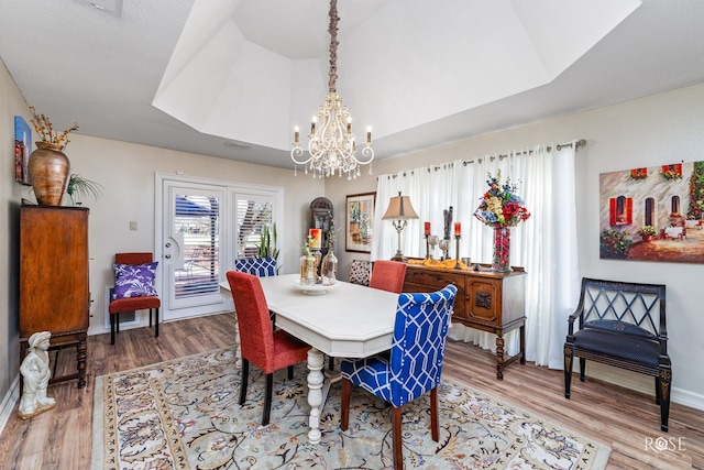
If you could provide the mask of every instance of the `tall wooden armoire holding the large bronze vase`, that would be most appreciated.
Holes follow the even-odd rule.
[[[88,209],[20,208],[20,345],[24,358],[35,332],[52,334],[50,349],[76,348],[76,373],[86,385],[90,292],[88,287]]]

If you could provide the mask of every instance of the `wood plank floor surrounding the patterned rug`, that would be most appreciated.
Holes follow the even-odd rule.
[[[52,384],[55,409],[26,422],[13,414],[0,436],[0,468],[88,469],[95,378],[230,346],[233,324],[232,314],[166,323],[156,339],[153,330],[138,328],[120,332],[114,346],[110,335],[89,337],[87,387],[77,389],[75,381]],[[52,361],[58,374],[75,367],[70,349]],[[497,381],[491,353],[453,341],[443,373],[606,444],[613,449],[608,469],[704,469],[704,412],[672,404],[664,434],[651,396],[575,378],[572,398],[565,400],[562,372],[530,363],[512,364]]]

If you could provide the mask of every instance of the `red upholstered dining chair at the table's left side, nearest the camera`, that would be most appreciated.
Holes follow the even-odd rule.
[[[244,405],[246,400],[250,362],[252,362],[266,374],[262,412],[262,426],[266,426],[272,409],[274,372],[288,368],[288,379],[293,379],[294,364],[306,361],[310,346],[284,330],[272,329],[272,318],[258,277],[238,271],[228,271],[227,276],[240,327],[242,350],[240,405]]]

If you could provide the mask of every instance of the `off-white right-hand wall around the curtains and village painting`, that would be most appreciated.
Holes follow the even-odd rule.
[[[668,286],[669,353],[673,363],[672,400],[704,409],[704,368],[693,358],[704,357],[704,320],[701,293],[704,266],[691,263],[601,260],[598,252],[600,173],[657,166],[681,161],[704,160],[704,85],[600,108],[568,117],[549,119],[424,150],[374,163],[374,177],[363,172],[352,183],[338,178],[326,185],[326,196],[343,221],[348,194],[376,190],[376,176],[395,174],[432,163],[505,153],[540,143],[565,143],[586,139],[578,152],[578,212],[580,275]],[[380,201],[386,206],[388,201]],[[342,226],[342,223],[341,223]],[[354,258],[342,244],[336,250],[340,271],[346,275]],[[420,250],[422,252],[422,250]],[[487,262],[490,260],[477,260]],[[595,364],[596,365],[596,364]],[[630,387],[653,393],[651,378],[605,367],[590,367],[588,373]]]

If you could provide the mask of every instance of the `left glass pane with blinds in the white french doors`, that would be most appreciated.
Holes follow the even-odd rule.
[[[176,298],[219,292],[220,200],[176,194],[174,233],[182,239],[184,264],[175,273]]]

